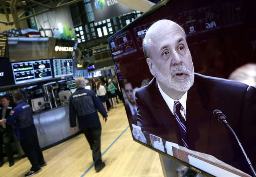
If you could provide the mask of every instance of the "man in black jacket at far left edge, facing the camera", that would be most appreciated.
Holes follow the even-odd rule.
[[[11,109],[15,107],[15,105],[10,104],[10,98],[9,96],[2,96],[1,97],[1,103],[0,105],[0,117],[1,119],[6,119]],[[12,127],[11,125],[7,124],[1,124],[0,125],[0,167],[4,164],[4,157],[3,157],[3,144],[6,149],[6,155],[7,159],[9,161],[9,166],[14,165],[13,160],[13,148],[11,146],[11,137],[12,137]]]

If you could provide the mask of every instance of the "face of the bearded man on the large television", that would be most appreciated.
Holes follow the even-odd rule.
[[[151,73],[165,87],[187,91],[194,82],[194,69],[183,31],[177,24],[162,24],[151,35]]]

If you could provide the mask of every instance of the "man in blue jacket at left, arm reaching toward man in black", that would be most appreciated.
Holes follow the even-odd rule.
[[[20,92],[13,94],[13,101],[17,106],[11,110],[7,119],[0,120],[0,124],[6,123],[11,125],[16,121],[15,133],[18,137],[18,141],[20,141],[20,146],[32,164],[30,171],[25,175],[25,177],[30,177],[42,171],[41,167],[46,166],[47,163],[44,160],[41,147],[39,146],[37,129],[34,125],[30,105],[23,101]]]

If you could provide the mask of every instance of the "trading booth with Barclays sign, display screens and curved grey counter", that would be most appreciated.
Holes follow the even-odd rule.
[[[22,93],[32,108],[41,148],[78,135],[69,124],[69,96],[76,90],[74,77],[78,75],[75,41],[0,37],[0,95]],[[24,152],[13,137],[13,149],[21,158]]]

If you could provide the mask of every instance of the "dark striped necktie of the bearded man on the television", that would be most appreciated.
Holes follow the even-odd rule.
[[[186,128],[186,120],[180,113],[180,108],[181,108],[181,103],[180,101],[174,101],[174,106],[175,106],[175,120],[176,120],[176,125],[178,126],[178,129],[180,131],[180,135],[183,141],[183,144],[185,147],[189,148],[187,146],[187,128]]]

